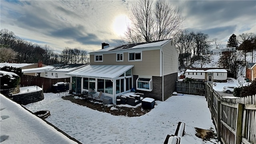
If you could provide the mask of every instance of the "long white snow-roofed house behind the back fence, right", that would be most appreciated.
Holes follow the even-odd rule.
[[[228,71],[219,68],[188,68],[185,76],[201,82],[226,82]]]

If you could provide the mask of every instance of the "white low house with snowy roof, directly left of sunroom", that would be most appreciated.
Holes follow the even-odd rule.
[[[53,69],[46,69],[45,76],[46,78],[70,78],[70,76],[65,75],[68,72],[72,72],[79,68],[82,68],[88,64],[60,64],[53,65]]]

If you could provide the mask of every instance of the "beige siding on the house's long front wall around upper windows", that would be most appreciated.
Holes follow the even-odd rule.
[[[103,54],[103,62],[94,62],[94,55],[90,54],[90,64],[134,65],[134,67],[132,68],[132,74],[134,75],[160,76],[160,50],[142,51],[142,61],[128,62],[128,52],[124,52],[123,58],[123,62],[116,62],[116,53]]]

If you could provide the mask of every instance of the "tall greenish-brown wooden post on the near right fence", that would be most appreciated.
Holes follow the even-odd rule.
[[[244,112],[244,104],[238,103],[237,104],[237,112],[236,112],[235,144],[241,144],[241,142],[242,142],[243,112]]]

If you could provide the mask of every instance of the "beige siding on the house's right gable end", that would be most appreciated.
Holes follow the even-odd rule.
[[[172,41],[162,47],[164,57],[164,75],[178,72],[178,52]]]

